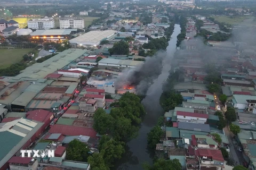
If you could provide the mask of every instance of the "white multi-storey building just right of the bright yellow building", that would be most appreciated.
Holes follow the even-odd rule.
[[[50,29],[55,27],[53,18],[32,19],[28,21],[28,28],[31,29]]]

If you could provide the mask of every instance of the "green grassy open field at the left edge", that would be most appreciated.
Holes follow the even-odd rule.
[[[22,56],[33,50],[32,48],[23,49],[0,49],[0,68],[4,69],[22,60]]]

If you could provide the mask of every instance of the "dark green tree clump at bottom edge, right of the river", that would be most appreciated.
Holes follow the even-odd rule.
[[[151,166],[150,164],[143,164],[145,170],[181,170],[182,166],[178,159],[165,160],[157,159],[156,162]]]

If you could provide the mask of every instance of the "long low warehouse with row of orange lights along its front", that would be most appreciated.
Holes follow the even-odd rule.
[[[55,30],[36,30],[31,33],[30,36],[33,39],[45,39],[45,40],[65,40],[68,35],[74,35],[77,29],[55,29]]]

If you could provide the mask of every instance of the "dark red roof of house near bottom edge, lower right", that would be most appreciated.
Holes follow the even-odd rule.
[[[213,160],[217,160],[219,162],[224,162],[224,158],[221,154],[221,150],[215,149],[197,149],[199,152],[199,156],[207,156],[212,158]]]

